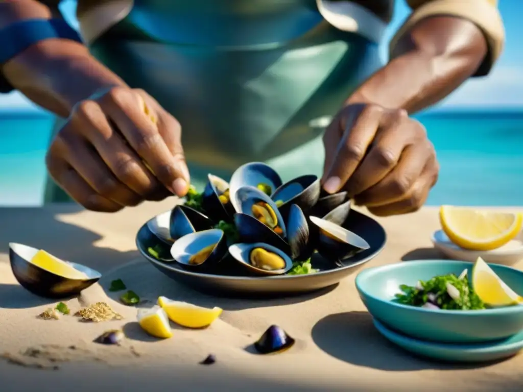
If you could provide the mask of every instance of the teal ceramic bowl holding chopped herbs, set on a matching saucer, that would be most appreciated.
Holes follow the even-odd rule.
[[[356,276],[356,288],[369,313],[385,326],[417,339],[442,343],[481,343],[508,338],[523,329],[523,306],[483,310],[440,310],[402,305],[394,301],[400,285],[414,286],[437,275],[459,275],[473,263],[454,260],[415,260],[374,267]],[[523,272],[489,264],[518,294],[523,294]]]

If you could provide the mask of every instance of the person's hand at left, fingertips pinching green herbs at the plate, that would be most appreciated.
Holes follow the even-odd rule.
[[[46,156],[51,177],[88,210],[116,212],[184,196],[181,128],[143,90],[113,87],[78,102]]]

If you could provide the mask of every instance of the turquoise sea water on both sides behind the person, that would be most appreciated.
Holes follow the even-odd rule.
[[[427,112],[437,149],[428,204],[523,205],[523,110]],[[0,205],[40,205],[52,118],[0,113]]]

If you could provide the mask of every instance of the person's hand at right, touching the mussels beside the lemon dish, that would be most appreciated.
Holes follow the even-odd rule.
[[[345,107],[323,136],[323,188],[346,190],[374,215],[418,210],[438,179],[434,146],[405,110]]]

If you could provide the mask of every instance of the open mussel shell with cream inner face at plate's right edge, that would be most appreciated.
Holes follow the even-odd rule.
[[[343,260],[370,248],[365,239],[335,223],[316,216],[309,219],[319,228],[316,248],[324,257]]]

